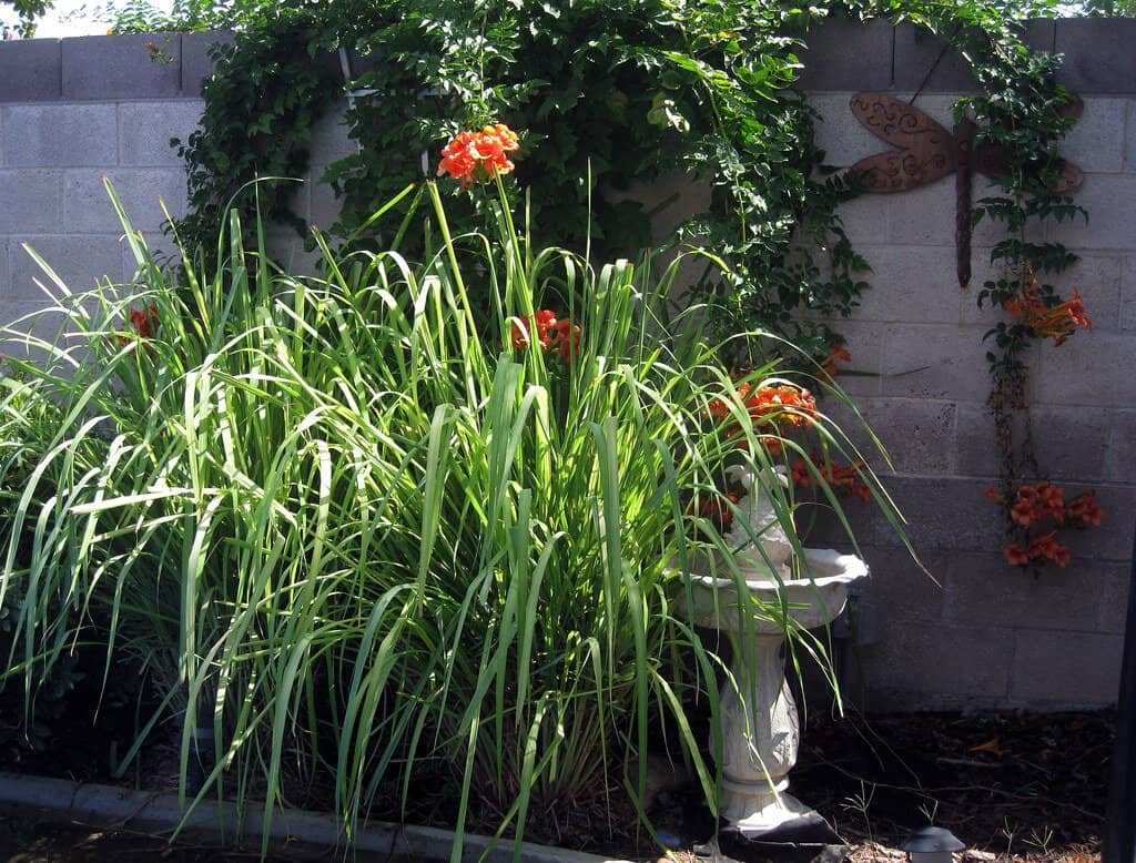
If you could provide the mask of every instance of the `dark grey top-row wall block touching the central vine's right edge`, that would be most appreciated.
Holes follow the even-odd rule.
[[[802,90],[888,90],[892,86],[892,25],[833,19],[810,33],[799,53]]]

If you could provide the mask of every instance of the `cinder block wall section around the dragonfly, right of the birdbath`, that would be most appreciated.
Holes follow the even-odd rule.
[[[1094,325],[1030,357],[1037,451],[1069,495],[1099,491],[1105,521],[1074,535],[1066,569],[1035,577],[1003,562],[1001,512],[983,498],[997,470],[983,334],[1002,313],[975,301],[994,271],[999,234],[976,229],[972,287],[962,291],[953,175],[846,206],[872,288],[836,326],[851,367],[871,376],[841,383],[887,447],[887,487],[942,585],[919,572],[878,517],[857,513],[872,584],[847,663],[859,675],[847,682],[858,694],[860,678],[870,710],[1060,710],[1117,698],[1136,518],[1136,22],[1037,22],[1029,35],[1066,55],[1063,83],[1085,101],[1062,149],[1085,171],[1076,198],[1089,221],[1051,224],[1045,237],[1080,255],[1056,284],[1064,295],[1079,287]],[[974,91],[959,58],[936,65],[941,44],[910,27],[828,25],[810,44],[803,83],[834,165],[888,149],[852,116],[854,92],[913,98],[951,128],[953,102]],[[976,200],[984,188],[976,177]]]

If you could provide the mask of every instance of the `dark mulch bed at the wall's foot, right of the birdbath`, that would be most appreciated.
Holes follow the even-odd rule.
[[[928,820],[1000,856],[1100,853],[1116,712],[924,713],[805,729],[793,790],[843,836],[894,847]]]

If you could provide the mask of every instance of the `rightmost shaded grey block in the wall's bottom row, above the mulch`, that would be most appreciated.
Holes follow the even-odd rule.
[[[1009,695],[1076,710],[1114,704],[1122,644],[1119,635],[1019,629]]]

